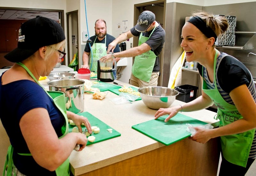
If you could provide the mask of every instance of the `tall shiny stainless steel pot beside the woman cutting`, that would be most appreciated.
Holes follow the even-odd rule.
[[[56,79],[49,81],[50,91],[65,93],[66,108],[73,113],[84,111],[84,81],[80,79]],[[70,106],[71,105],[71,106]]]

